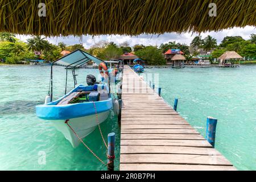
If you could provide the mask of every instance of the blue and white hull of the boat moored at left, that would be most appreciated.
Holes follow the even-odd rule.
[[[92,133],[98,124],[108,118],[109,111],[113,107],[112,98],[94,102],[96,109],[93,102],[57,105],[64,97],[67,97],[72,92],[76,92],[78,89],[89,91],[92,87],[79,85],[59,100],[36,106],[36,116],[51,121],[53,126],[63,133],[64,137],[69,140],[73,147],[79,146],[80,140],[65,122],[68,121],[72,129],[82,139]]]

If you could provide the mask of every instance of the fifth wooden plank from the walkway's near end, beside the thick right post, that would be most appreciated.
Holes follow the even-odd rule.
[[[121,139],[183,139],[205,140],[199,134],[125,134],[121,133]]]

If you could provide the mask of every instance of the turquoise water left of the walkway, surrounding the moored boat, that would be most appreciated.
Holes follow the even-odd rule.
[[[71,70],[68,71],[68,90],[73,88]],[[98,75],[97,69],[77,69],[77,82],[86,84],[86,75]],[[0,170],[106,170],[82,144],[73,148],[48,121],[35,115],[35,105],[44,104],[48,93],[50,67],[32,65],[0,66]],[[65,69],[53,72],[53,100],[63,96]],[[113,111],[101,124],[107,140],[115,132],[115,169],[119,167],[119,127]],[[84,142],[106,162],[106,147],[98,129]],[[46,164],[42,164],[42,153]]]

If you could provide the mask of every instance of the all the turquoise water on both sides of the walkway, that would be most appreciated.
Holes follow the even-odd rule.
[[[47,121],[36,118],[35,105],[48,93],[47,66],[0,66],[0,170],[105,170],[86,148],[72,148]],[[205,136],[206,118],[218,119],[216,148],[240,170],[256,170],[256,66],[240,68],[146,69],[156,73],[162,96]],[[77,80],[85,84],[97,69],[78,69]],[[73,87],[69,71],[68,90]],[[55,67],[54,98],[64,94],[65,69]],[[102,123],[105,139],[117,133],[115,168],[119,163],[119,127],[113,111]],[[106,148],[98,129],[84,139],[106,162]],[[39,152],[46,164],[39,164]]]

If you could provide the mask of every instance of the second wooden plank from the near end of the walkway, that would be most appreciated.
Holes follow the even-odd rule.
[[[222,155],[187,155],[187,154],[122,154],[120,163],[138,164],[207,164],[232,166]]]

